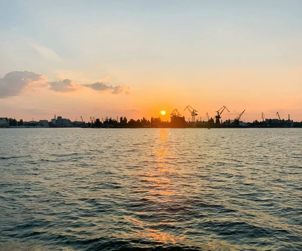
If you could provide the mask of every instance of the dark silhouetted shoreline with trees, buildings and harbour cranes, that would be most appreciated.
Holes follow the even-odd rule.
[[[238,113],[238,115],[234,119],[226,119],[224,122],[222,121],[221,114],[224,110],[229,111],[229,109],[223,105],[219,110],[215,111],[216,114],[213,117],[206,113],[206,120],[202,120],[201,117],[199,120],[195,119],[197,116],[197,110],[190,105],[187,105],[184,111],[189,110],[191,114],[191,121],[188,118],[188,121],[185,120],[185,117],[182,116],[178,109],[174,109],[170,114],[170,121],[164,121],[161,117],[151,117],[150,120],[143,117],[143,119],[129,119],[121,116],[120,122],[117,119],[112,119],[111,117],[106,119],[95,118],[94,116],[90,117],[89,122],[86,123],[82,116],[80,121],[71,121],[69,118],[63,118],[62,116],[54,115],[54,118],[51,120],[41,119],[39,121],[35,121],[34,118],[31,121],[17,121],[13,118],[0,117],[0,127],[8,128],[8,127],[51,127],[51,128],[61,128],[61,127],[97,127],[97,128],[247,128],[247,127],[261,127],[261,128],[292,128],[292,127],[302,127],[302,122],[294,122],[290,119],[288,114],[288,119],[281,119],[279,112],[276,112],[277,118],[266,118],[264,113],[261,113],[261,120],[255,120],[253,122],[245,122],[242,119],[243,114],[245,113],[245,109]],[[230,111],[229,111],[230,112]],[[225,112],[224,112],[225,113]],[[232,114],[234,115],[234,113]],[[282,114],[281,114],[282,115]],[[243,120],[243,121],[242,121]]]

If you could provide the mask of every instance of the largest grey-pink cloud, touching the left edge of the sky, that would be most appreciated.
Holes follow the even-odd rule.
[[[46,82],[46,77],[29,71],[12,71],[0,78],[0,98],[17,96],[30,85]]]

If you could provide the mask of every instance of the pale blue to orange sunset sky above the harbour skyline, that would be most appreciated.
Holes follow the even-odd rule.
[[[0,0],[0,117],[302,120],[302,2]],[[166,115],[160,111],[166,110]]]

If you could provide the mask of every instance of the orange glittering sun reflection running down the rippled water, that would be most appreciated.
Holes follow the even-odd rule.
[[[173,184],[173,178],[175,177],[174,170],[171,168],[171,161],[175,159],[171,155],[170,149],[169,131],[167,129],[161,129],[159,131],[159,138],[155,143],[155,151],[152,153],[153,157],[156,157],[156,166],[154,169],[149,169],[142,174],[143,181],[147,182],[147,194],[143,197],[152,201],[156,205],[158,212],[166,214],[167,210],[171,210],[173,202],[176,200],[175,196],[182,196],[177,193]],[[147,161],[147,160],[146,160]],[[172,176],[171,176],[172,175]],[[162,212],[161,212],[162,211]],[[145,238],[152,241],[158,241],[165,244],[177,243],[184,239],[183,234],[175,234],[173,230],[168,226],[175,225],[177,222],[173,221],[173,215],[167,217],[165,220],[161,220],[158,223],[147,220],[137,220],[130,217],[133,222],[133,227],[139,227],[140,230],[135,230],[140,238]]]

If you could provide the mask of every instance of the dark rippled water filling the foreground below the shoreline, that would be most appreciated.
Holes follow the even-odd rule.
[[[301,129],[2,129],[1,250],[301,250]]]

